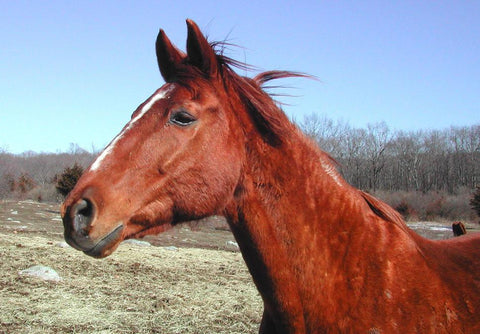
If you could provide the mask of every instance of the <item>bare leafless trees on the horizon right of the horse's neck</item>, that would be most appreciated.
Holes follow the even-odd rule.
[[[456,194],[480,186],[480,124],[393,131],[385,122],[354,128],[312,114],[300,127],[337,160],[345,179],[363,190]]]

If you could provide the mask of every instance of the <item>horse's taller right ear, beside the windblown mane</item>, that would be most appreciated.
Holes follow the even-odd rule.
[[[213,76],[217,72],[217,56],[203,36],[200,28],[192,20],[187,20],[187,56],[188,62],[202,73]]]

